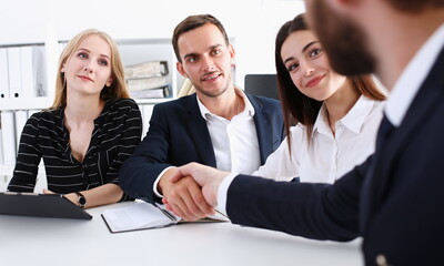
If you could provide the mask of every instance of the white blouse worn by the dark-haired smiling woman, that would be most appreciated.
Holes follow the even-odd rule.
[[[300,177],[301,182],[334,183],[374,152],[384,102],[361,95],[349,113],[336,122],[333,135],[325,105],[313,125],[309,144],[305,126],[291,131],[291,156],[286,139],[253,175],[276,181]]]

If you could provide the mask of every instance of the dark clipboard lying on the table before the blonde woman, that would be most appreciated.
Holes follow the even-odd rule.
[[[91,219],[92,216],[60,194],[0,193],[0,214],[49,218]]]

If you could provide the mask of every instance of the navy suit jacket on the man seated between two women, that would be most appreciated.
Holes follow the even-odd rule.
[[[281,104],[269,98],[246,96],[254,108],[262,165],[284,139]],[[191,162],[216,166],[195,94],[154,106],[147,136],[120,168],[120,185],[128,195],[153,203],[158,198],[152,187],[159,174],[168,166]]]

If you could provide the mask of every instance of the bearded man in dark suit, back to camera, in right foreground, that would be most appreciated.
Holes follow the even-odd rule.
[[[444,1],[305,0],[333,68],[390,90],[375,154],[333,185],[179,167],[235,224],[315,239],[362,236],[366,265],[444,263]]]

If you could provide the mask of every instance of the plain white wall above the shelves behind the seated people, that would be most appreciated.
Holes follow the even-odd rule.
[[[248,73],[275,72],[275,34],[303,11],[300,0],[0,0],[0,44],[69,40],[87,28],[114,39],[171,38],[186,16],[211,13],[235,39],[236,84],[243,86]]]

